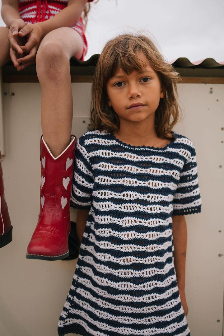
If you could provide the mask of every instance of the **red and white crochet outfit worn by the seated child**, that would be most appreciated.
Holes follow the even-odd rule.
[[[88,0],[88,2],[92,1],[93,0]],[[62,9],[67,7],[67,5],[68,0],[18,0],[18,11],[20,18],[23,19],[27,25],[28,23],[37,23],[50,19],[51,17],[59,13]],[[71,26],[70,28],[75,29],[83,39],[83,54],[80,58],[80,60],[83,61],[87,53],[88,45],[84,32],[85,27],[82,18],[80,17],[77,24]]]

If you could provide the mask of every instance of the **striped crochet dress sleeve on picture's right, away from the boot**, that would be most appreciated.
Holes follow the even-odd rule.
[[[192,145],[191,154],[180,172],[180,180],[173,199],[172,215],[187,215],[201,212],[196,152],[193,143]]]

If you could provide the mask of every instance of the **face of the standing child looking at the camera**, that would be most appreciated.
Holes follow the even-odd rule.
[[[158,74],[149,65],[144,54],[141,53],[138,57],[147,63],[144,73],[134,70],[127,75],[119,68],[106,83],[108,106],[113,107],[120,121],[151,119],[159,106],[160,98],[164,97]],[[133,103],[143,105],[129,108]]]

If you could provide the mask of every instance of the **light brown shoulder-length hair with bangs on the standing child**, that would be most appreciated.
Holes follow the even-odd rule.
[[[161,86],[166,90],[164,98],[160,98],[159,106],[155,111],[156,134],[159,138],[175,139],[167,134],[179,119],[181,109],[177,102],[177,83],[183,80],[174,67],[164,59],[153,41],[142,33],[121,34],[105,44],[93,77],[89,129],[101,129],[107,132],[115,132],[119,129],[119,117],[113,107],[107,104],[106,83],[115,75],[119,67],[127,75],[133,70],[144,71],[146,64],[138,58],[138,53],[141,52],[159,75]]]

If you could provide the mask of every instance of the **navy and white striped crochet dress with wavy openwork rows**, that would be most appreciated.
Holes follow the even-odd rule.
[[[89,209],[58,334],[189,336],[173,258],[172,215],[201,211],[194,144],[164,148],[113,133],[78,140],[71,206]]]

